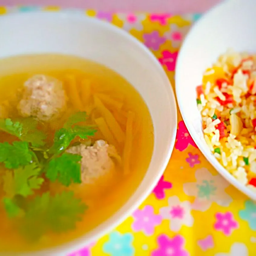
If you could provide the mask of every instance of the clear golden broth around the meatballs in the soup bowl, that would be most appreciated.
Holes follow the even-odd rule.
[[[153,124],[149,110],[139,93],[114,71],[79,57],[44,54],[1,59],[0,104],[7,102],[10,105],[11,110],[8,117],[18,115],[15,105],[19,97],[19,89],[23,86],[25,80],[34,74],[50,75],[61,80],[64,84],[64,89],[67,90],[68,97],[70,92],[66,85],[67,74],[76,78],[80,97],[80,90],[83,86],[82,81],[88,79],[90,81],[91,97],[96,94],[103,94],[114,98],[122,104],[120,110],[114,109],[113,106],[109,106],[109,110],[120,123],[124,132],[127,112],[133,111],[136,123],[134,124],[135,131],[130,157],[131,171],[124,177],[123,170],[117,170],[115,175],[99,179],[95,184],[86,186],[85,189],[74,186],[75,193],[89,206],[83,216],[83,220],[77,223],[77,228],[74,231],[63,234],[47,234],[36,243],[29,243],[21,237],[13,227],[12,221],[6,216],[3,207],[0,206],[0,252],[32,251],[61,245],[97,227],[117,212],[135,192],[146,173],[153,153]],[[81,101],[84,110],[89,110],[90,112],[91,99],[87,102],[84,102],[83,99]],[[47,126],[46,132],[49,140],[52,139],[54,130],[60,128],[63,119],[71,113],[79,111],[72,104],[72,101],[69,101],[68,104],[68,111],[64,114],[64,117]],[[107,104],[106,107],[108,107]],[[91,111],[89,121],[93,122],[94,118],[98,116],[99,113],[97,111]],[[100,132],[97,132],[94,139],[105,138]],[[0,142],[4,141],[11,142],[11,138],[6,136],[6,133],[1,132]],[[122,153],[123,144],[114,146]],[[58,189],[58,186],[56,185],[56,188],[52,189]]]

